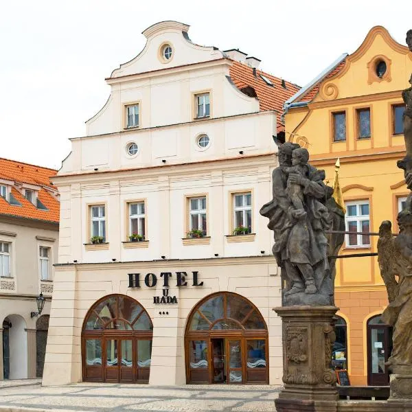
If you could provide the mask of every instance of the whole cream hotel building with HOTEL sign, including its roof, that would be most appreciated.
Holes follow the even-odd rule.
[[[299,88],[188,29],[143,32],[54,178],[43,385],[282,382],[280,271],[259,209],[279,111]]]

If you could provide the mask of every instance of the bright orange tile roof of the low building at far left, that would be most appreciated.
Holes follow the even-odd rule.
[[[41,186],[41,189],[38,190],[38,200],[48,209],[37,209],[35,205],[27,201],[25,196],[13,186],[12,195],[21,203],[21,206],[10,205],[5,198],[0,196],[0,215],[12,215],[21,218],[58,222],[60,202],[44,188],[49,187],[56,192],[56,186],[50,183],[50,177],[55,176],[56,173],[57,170],[0,158],[0,179],[14,181],[17,184],[27,183]]]

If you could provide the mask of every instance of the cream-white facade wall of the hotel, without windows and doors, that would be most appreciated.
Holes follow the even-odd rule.
[[[258,212],[271,198],[276,115],[260,112],[259,101],[233,85],[232,60],[192,43],[187,29],[162,22],[145,30],[146,46],[106,79],[108,101],[87,122],[87,136],[72,139],[72,152],[54,179],[60,264],[43,385],[84,378],[84,317],[95,301],[113,293],[139,301],[152,320],[150,383],[185,383],[187,318],[198,301],[216,292],[238,293],[260,310],[268,330],[268,381],[281,383],[282,332],[271,310],[280,304],[279,271],[271,232]],[[205,94],[209,115],[197,117],[197,96]],[[138,106],[137,127],[127,127],[127,106]],[[209,138],[204,148],[198,145],[202,135]],[[137,144],[132,155],[130,144]],[[244,236],[233,236],[236,194],[251,195],[250,233]],[[187,238],[190,198],[205,198],[201,238]],[[137,202],[144,203],[144,241],[130,242],[128,205]],[[93,205],[104,207],[101,244],[91,244]],[[173,275],[170,295],[178,304],[167,307],[153,301],[161,296],[160,281],[155,288],[128,287],[128,273],[159,279],[165,271],[198,271],[204,284],[179,288]]]

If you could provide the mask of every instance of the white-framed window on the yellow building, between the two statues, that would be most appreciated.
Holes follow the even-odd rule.
[[[371,244],[369,234],[369,201],[345,203],[346,231],[354,232],[345,235],[346,247],[363,247]],[[358,233],[356,233],[358,232]]]

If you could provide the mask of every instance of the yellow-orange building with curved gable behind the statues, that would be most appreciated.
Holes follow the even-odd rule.
[[[326,181],[339,172],[346,206],[346,230],[377,232],[393,222],[409,191],[396,161],[405,155],[401,91],[409,87],[412,53],[374,27],[353,54],[342,55],[286,102],[286,140],[308,148],[312,164],[325,169]],[[345,235],[341,255],[376,253],[377,236]],[[376,256],[336,263],[334,365],[347,368],[352,385],[388,385],[385,361],[391,328],[380,321],[387,306]]]

